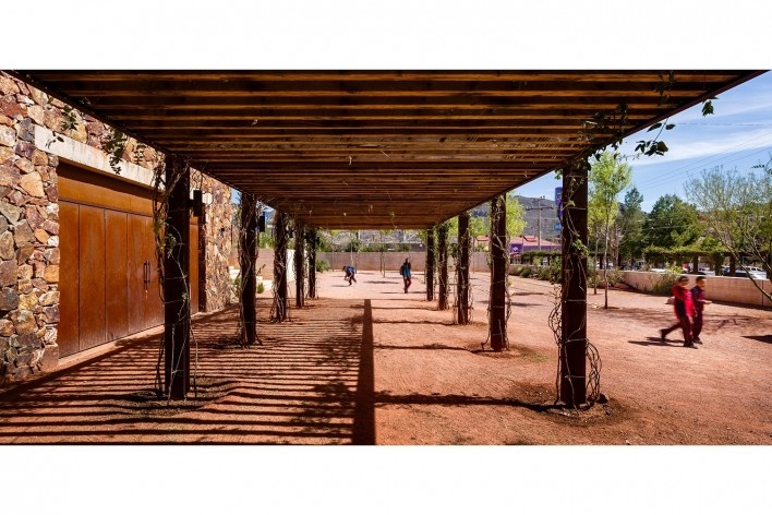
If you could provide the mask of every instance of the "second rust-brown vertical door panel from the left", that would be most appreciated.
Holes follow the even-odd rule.
[[[79,226],[79,348],[85,350],[106,342],[105,209],[82,205]]]

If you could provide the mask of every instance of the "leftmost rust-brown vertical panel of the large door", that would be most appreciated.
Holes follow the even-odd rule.
[[[59,203],[59,250],[61,252],[59,276],[59,312],[57,343],[59,356],[65,357],[79,351],[79,206],[70,202]]]

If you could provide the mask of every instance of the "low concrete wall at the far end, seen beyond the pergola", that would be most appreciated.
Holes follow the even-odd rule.
[[[470,268],[471,272],[490,272],[486,262],[486,252],[472,252]],[[413,272],[424,272],[426,268],[425,252],[384,252],[384,263],[387,271],[399,272],[399,267],[409,258]],[[316,260],[325,260],[331,270],[341,270],[346,265],[353,264],[359,271],[381,271],[379,252],[317,252]],[[451,258],[448,267],[455,267],[455,260]]]

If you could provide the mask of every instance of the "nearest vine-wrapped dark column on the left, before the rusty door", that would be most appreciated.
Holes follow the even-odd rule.
[[[164,388],[169,398],[190,391],[190,169],[166,159],[168,211],[164,238]]]

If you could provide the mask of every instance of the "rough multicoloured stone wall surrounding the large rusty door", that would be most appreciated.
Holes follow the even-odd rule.
[[[65,123],[68,119],[71,123]],[[98,120],[0,73],[0,384],[58,364],[57,166],[62,154],[57,148],[86,148],[92,154],[96,149],[97,160],[108,163],[102,143],[110,132]],[[81,163],[77,155],[70,157]],[[121,163],[152,177],[162,159],[160,153],[130,140]],[[125,176],[121,178],[130,180]],[[222,228],[230,226],[230,188],[206,176],[200,176],[198,183],[214,199],[206,206],[200,245],[205,255],[202,309],[212,311],[228,301],[230,240]]]

